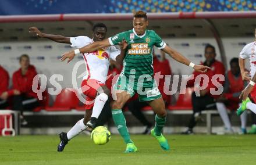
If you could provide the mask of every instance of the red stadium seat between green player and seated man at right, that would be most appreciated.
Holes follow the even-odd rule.
[[[176,105],[169,105],[169,110],[192,110],[191,94],[194,88],[186,88],[185,94],[180,94]]]

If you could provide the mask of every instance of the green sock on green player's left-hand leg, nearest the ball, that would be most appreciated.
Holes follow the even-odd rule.
[[[119,134],[123,137],[126,144],[133,143],[126,127],[125,116],[123,116],[122,109],[112,109],[112,117]]]

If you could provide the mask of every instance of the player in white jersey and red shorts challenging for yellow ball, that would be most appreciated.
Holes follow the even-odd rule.
[[[106,37],[107,27],[103,23],[97,23],[93,26],[93,38],[87,36],[78,37],[64,37],[62,35],[46,34],[38,30],[37,27],[30,27],[29,32],[37,34],[38,37],[48,38],[49,40],[70,44],[72,47],[82,48],[95,41],[102,41]],[[87,129],[87,127],[94,128],[96,120],[102,111],[106,101],[111,92],[105,85],[108,74],[109,59],[116,60],[118,63],[123,62],[127,43],[123,41],[120,43],[121,52],[115,46],[109,46],[98,51],[83,53],[84,62],[87,67],[87,74],[83,77],[82,91],[87,96],[86,98],[86,114],[83,119],[69,130],[69,132],[61,132],[59,137],[61,143],[58,145],[58,152],[62,152],[67,142],[78,135],[80,132]],[[95,100],[94,100],[95,99]],[[94,103],[92,103],[94,101]],[[88,119],[90,118],[90,121]]]

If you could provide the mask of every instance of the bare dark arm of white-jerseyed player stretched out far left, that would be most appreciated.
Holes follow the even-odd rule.
[[[71,44],[69,37],[64,37],[62,35],[42,33],[40,30],[38,30],[37,27],[30,27],[29,33],[35,33],[37,34],[37,37],[48,38],[49,40],[52,40],[55,42]]]

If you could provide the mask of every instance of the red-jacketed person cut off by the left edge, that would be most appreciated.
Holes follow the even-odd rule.
[[[7,99],[10,96],[8,92],[9,74],[2,66],[0,66],[0,75],[0,109],[5,109],[8,107]]]

